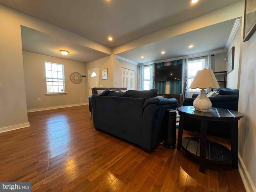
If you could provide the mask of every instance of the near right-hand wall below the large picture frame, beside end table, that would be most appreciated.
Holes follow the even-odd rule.
[[[256,33],[243,43],[238,111],[244,114],[239,121],[239,154],[245,177],[251,180],[250,191],[256,191]],[[242,169],[243,166],[240,166]],[[247,180],[247,181],[249,181]]]

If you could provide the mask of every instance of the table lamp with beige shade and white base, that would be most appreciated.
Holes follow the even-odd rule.
[[[220,88],[216,77],[211,69],[204,68],[203,70],[198,70],[194,80],[192,81],[190,87],[191,89],[200,88],[200,93],[193,102],[193,106],[198,111],[209,112],[211,111],[212,102],[206,96],[206,88]]]

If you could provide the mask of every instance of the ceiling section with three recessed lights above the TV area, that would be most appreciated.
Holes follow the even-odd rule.
[[[166,60],[225,48],[236,19],[218,23],[117,54],[136,63]],[[188,48],[194,45],[193,48]],[[165,51],[165,54],[161,54]],[[144,56],[144,58],[141,58]]]

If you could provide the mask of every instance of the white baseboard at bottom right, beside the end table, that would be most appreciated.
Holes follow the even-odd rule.
[[[242,178],[242,181],[244,183],[246,192],[255,192],[256,187],[255,187],[254,183],[252,182],[252,178],[250,177],[250,174],[248,173],[246,166],[244,165],[244,162],[239,154],[238,154],[238,158],[239,158],[238,170],[239,170],[240,176]]]

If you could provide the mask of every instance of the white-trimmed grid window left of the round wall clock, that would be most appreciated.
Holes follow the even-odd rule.
[[[45,62],[47,93],[64,93],[64,65]]]

